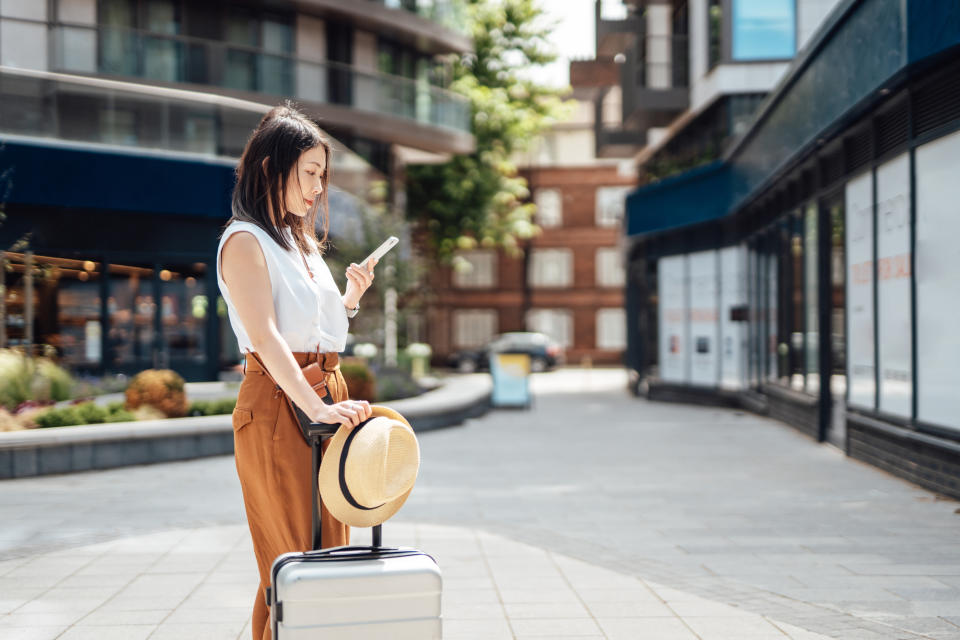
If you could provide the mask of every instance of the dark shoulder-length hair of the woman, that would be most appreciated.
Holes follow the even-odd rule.
[[[299,182],[297,161],[301,153],[314,147],[323,147],[327,157],[324,173],[320,177],[323,191],[307,215],[301,218],[287,212],[287,176],[294,171]],[[227,224],[234,220],[252,222],[288,251],[293,246],[282,233],[282,228],[290,227],[294,242],[301,251],[305,254],[314,251],[323,253],[330,229],[327,192],[332,175],[332,152],[330,141],[320,127],[297,109],[293,102],[284,100],[270,109],[250,135],[237,164],[237,183],[233,187],[231,202],[233,215]],[[266,165],[264,159],[267,159]],[[267,206],[268,198],[273,208],[273,219]],[[319,243],[316,233],[318,214],[323,229]]]

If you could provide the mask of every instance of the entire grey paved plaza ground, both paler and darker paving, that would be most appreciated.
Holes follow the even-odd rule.
[[[445,638],[960,638],[956,503],[622,371],[532,386],[422,434],[384,526],[440,562]],[[231,457],[4,481],[0,520],[0,638],[251,637]]]

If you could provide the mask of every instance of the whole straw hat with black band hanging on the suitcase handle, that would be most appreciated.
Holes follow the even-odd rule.
[[[373,406],[373,417],[340,427],[320,461],[323,504],[351,527],[372,527],[403,506],[420,469],[420,445],[406,418]]]

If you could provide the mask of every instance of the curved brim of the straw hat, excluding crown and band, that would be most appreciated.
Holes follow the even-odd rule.
[[[410,423],[402,415],[389,407],[380,405],[371,405],[373,411],[372,418],[390,418],[397,420],[410,427]],[[410,427],[413,430],[413,427]],[[396,499],[387,502],[376,509],[357,509],[344,497],[340,491],[340,456],[343,454],[343,445],[350,435],[352,429],[341,426],[330,439],[330,444],[323,454],[320,461],[320,473],[318,477],[320,487],[320,499],[323,501],[327,510],[340,522],[351,527],[373,527],[389,520],[393,514],[399,511],[403,503],[406,502],[413,487],[398,496]],[[329,490],[324,491],[324,487]]]

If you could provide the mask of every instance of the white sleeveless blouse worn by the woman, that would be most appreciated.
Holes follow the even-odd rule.
[[[307,274],[303,258],[294,246],[290,251],[277,244],[267,232],[253,224],[234,220],[223,232],[217,247],[217,284],[227,303],[230,326],[237,336],[240,352],[255,351],[247,335],[237,309],[230,299],[230,292],[220,270],[220,253],[227,238],[238,231],[249,231],[260,242],[260,249],[267,261],[270,287],[273,292],[273,308],[277,314],[277,328],[291,351],[321,352],[343,351],[347,343],[347,310],[343,306],[340,289],[333,281],[330,268],[319,254],[304,256],[313,272],[313,280]],[[293,242],[293,233],[284,228],[283,233]],[[238,286],[232,283],[232,286]],[[243,284],[239,284],[243,286]]]

